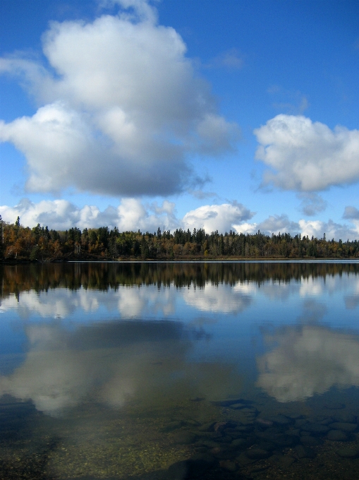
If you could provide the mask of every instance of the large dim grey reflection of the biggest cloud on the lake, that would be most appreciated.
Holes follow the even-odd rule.
[[[51,416],[83,402],[119,408],[133,400],[162,403],[171,395],[215,400],[241,385],[231,364],[187,361],[193,341],[206,334],[180,322],[92,323],[75,331],[56,322],[27,325],[25,333],[25,361],[0,376],[0,397],[32,400]]]

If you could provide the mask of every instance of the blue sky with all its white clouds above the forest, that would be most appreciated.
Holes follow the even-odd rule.
[[[2,0],[0,215],[359,238],[359,4]]]

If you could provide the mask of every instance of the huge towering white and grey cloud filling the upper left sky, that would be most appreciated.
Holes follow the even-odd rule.
[[[50,24],[51,69],[20,54],[0,59],[39,103],[33,116],[0,124],[0,140],[26,157],[29,191],[164,196],[195,183],[190,152],[218,155],[238,138],[181,36],[145,0],[112,3],[132,9]]]

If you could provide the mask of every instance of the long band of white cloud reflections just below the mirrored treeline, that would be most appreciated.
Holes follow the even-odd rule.
[[[253,280],[237,282],[205,281],[200,286],[194,282],[178,287],[175,282],[158,286],[128,284],[107,289],[64,287],[47,290],[27,289],[17,295],[1,299],[0,311],[16,311],[21,318],[67,318],[83,313],[119,314],[121,318],[148,316],[176,316],[183,304],[207,313],[238,314],[260,304],[260,301],[287,303],[291,299],[330,298],[343,294],[348,309],[358,305],[359,280],[353,275],[327,275],[327,277],[299,277],[288,280]],[[105,287],[105,285],[104,285]],[[325,300],[324,300],[325,301]],[[103,311],[103,312],[102,312]],[[181,316],[181,313],[179,313]]]

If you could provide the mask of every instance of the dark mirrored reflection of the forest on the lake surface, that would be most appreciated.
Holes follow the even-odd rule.
[[[0,265],[0,299],[21,292],[66,288],[106,292],[119,287],[156,285],[188,288],[255,282],[302,282],[335,275],[359,275],[358,263],[278,262],[85,262]]]

